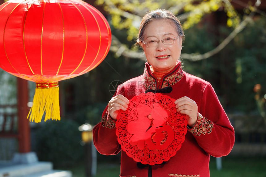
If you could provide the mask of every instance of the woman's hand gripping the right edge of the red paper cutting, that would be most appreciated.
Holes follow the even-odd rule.
[[[174,103],[176,104],[176,111],[181,114],[186,114],[187,124],[194,127],[198,120],[198,105],[196,102],[187,96],[184,96],[175,100]]]

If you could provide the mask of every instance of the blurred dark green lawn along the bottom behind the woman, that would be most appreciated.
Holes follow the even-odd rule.
[[[73,177],[85,177],[84,164],[77,165],[70,170]],[[98,163],[97,175],[95,177],[119,177],[119,163]],[[216,168],[216,160],[210,160],[211,177],[265,177],[266,158],[265,157],[222,157],[222,169]]]

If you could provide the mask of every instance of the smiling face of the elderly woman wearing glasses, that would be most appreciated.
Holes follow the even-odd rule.
[[[177,38],[176,32],[170,20],[154,20],[150,22],[144,32],[144,42],[151,40],[163,40],[167,37]],[[182,36],[179,36],[174,44],[165,45],[161,41],[157,46],[148,47],[142,43],[144,53],[153,70],[165,72],[174,69],[182,49]]]

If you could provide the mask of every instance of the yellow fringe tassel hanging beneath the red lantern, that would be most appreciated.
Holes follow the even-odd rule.
[[[40,87],[36,83],[35,95],[33,97],[32,107],[28,113],[29,121],[39,123],[45,112],[45,119],[60,120],[59,107],[59,87],[47,86]],[[42,83],[43,84],[43,83]],[[58,84],[58,82],[57,82]]]

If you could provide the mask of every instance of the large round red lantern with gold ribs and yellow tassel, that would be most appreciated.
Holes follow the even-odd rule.
[[[111,30],[81,0],[10,0],[0,6],[0,67],[36,82],[30,121],[60,120],[58,81],[87,73],[106,57]]]

